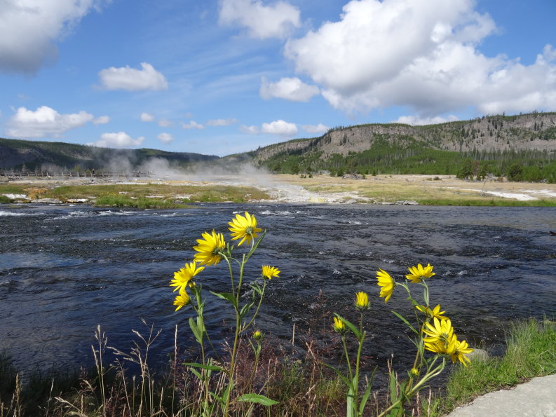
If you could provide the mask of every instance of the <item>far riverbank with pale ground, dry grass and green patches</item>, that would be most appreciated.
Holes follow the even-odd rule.
[[[448,175],[379,175],[367,178],[315,175],[220,175],[179,178],[4,179],[0,202],[96,203],[181,207],[188,203],[367,203],[421,205],[556,206],[556,184],[463,181]],[[51,200],[43,200],[50,198]],[[40,201],[43,200],[43,201]],[[157,206],[156,202],[160,204]],[[164,203],[162,203],[164,202]]]

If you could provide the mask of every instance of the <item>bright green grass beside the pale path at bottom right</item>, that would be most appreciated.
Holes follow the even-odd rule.
[[[443,416],[487,392],[556,373],[556,322],[529,319],[512,324],[506,343],[503,357],[457,367],[449,376],[445,395],[434,400],[430,415]]]

